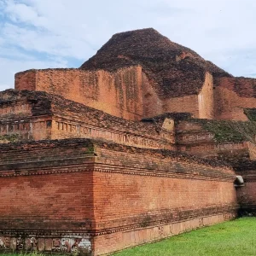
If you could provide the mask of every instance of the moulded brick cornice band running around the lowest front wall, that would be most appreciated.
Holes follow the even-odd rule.
[[[71,160],[76,163],[71,164]],[[90,160],[90,162],[88,162]],[[204,174],[198,172],[178,172],[176,170],[163,171],[163,170],[148,170],[146,168],[135,168],[125,166],[115,166],[115,165],[104,165],[99,164],[94,161],[94,157],[89,157],[88,159],[74,158],[65,159],[61,161],[52,160],[51,161],[41,161],[42,165],[38,171],[37,165],[38,161],[31,161],[22,164],[9,164],[9,170],[3,168],[0,171],[0,177],[19,177],[19,176],[33,176],[33,175],[49,175],[49,174],[60,174],[60,173],[73,173],[73,172],[106,172],[106,173],[117,173],[125,175],[137,175],[137,176],[151,176],[151,177],[172,177],[172,178],[183,178],[183,179],[197,179],[197,180],[218,180],[221,182],[233,183],[235,176],[232,174],[222,173],[220,175],[213,175],[211,172],[205,172]],[[47,166],[44,166],[47,164]],[[52,164],[52,166],[51,166]],[[18,168],[15,168],[18,166]],[[26,166],[30,166],[26,168]],[[4,165],[3,167],[6,167]],[[1,166],[0,166],[1,168]]]

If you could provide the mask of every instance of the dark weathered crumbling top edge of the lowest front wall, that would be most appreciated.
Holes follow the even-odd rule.
[[[43,154],[42,152],[44,152],[44,150],[47,148],[51,149],[51,153]],[[58,150],[55,151],[55,148],[58,148]],[[223,167],[229,171],[232,171],[229,165],[220,160],[202,159],[196,157],[195,155],[179,153],[172,150],[136,148],[120,145],[118,143],[108,143],[107,141],[102,140],[81,138],[0,144],[0,164],[8,162],[22,162],[22,155],[20,157],[19,152],[27,153],[31,151],[33,153],[31,154],[31,160],[44,160],[45,157],[49,157],[49,155],[51,155],[51,157],[55,157],[54,155],[59,154],[61,148],[68,148],[69,157],[75,155],[81,155],[85,157],[86,153],[91,155],[96,153],[96,148],[105,148],[117,152],[125,152],[127,154],[143,154],[156,158],[180,160],[188,163],[193,162],[204,166]],[[6,156],[7,154],[9,155],[9,157]],[[64,157],[67,157],[67,155],[64,155]]]

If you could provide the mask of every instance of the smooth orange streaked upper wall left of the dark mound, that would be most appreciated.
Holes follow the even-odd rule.
[[[80,69],[29,70],[15,75],[15,89],[44,90],[125,119],[142,119],[141,67],[116,73]]]

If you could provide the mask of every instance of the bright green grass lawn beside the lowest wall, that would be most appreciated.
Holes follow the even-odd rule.
[[[127,249],[114,256],[256,256],[256,218],[238,218],[163,241]]]

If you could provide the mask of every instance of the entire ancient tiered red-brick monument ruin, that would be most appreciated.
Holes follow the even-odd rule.
[[[256,209],[256,79],[154,29],[0,92],[0,249],[102,255]]]

